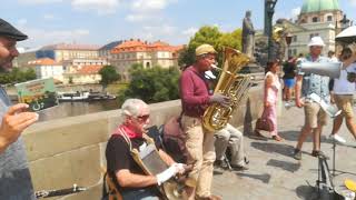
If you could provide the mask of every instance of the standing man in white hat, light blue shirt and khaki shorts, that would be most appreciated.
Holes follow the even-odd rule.
[[[326,57],[322,57],[324,41],[320,37],[313,37],[308,43],[309,54],[304,59],[309,62],[328,62]],[[295,148],[294,158],[301,159],[301,146],[308,134],[313,133],[313,157],[325,154],[320,151],[320,134],[323,127],[327,122],[326,112],[320,108],[320,104],[310,99],[312,93],[319,96],[325,102],[329,102],[329,78],[315,73],[304,74],[298,72],[296,82],[296,106],[304,107],[305,123],[300,130],[298,143]],[[300,91],[301,89],[301,91]],[[301,97],[305,101],[301,101]]]

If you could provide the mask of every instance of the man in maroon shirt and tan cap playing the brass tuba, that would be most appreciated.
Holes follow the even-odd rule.
[[[207,132],[201,126],[205,110],[210,103],[228,104],[229,99],[222,94],[209,92],[209,82],[205,72],[216,63],[216,50],[210,44],[196,49],[196,62],[186,68],[179,80],[181,98],[181,128],[186,136],[188,151],[187,163],[194,163],[186,184],[186,199],[216,200],[211,194],[215,161],[214,132]]]

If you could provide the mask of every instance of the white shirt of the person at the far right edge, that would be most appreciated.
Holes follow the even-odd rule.
[[[347,72],[356,72],[356,63],[352,63],[345,70],[342,70],[340,78],[335,79],[334,93],[335,94],[354,94],[356,84],[347,80]]]

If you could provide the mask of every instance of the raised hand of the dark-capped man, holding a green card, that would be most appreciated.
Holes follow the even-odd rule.
[[[28,108],[26,103],[18,103],[9,108],[2,117],[0,127],[0,153],[2,153],[12,142],[16,142],[21,132],[38,120],[34,112],[24,112]]]

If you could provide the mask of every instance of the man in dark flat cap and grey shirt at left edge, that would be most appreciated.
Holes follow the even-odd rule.
[[[12,60],[19,56],[17,41],[27,36],[0,19],[0,72],[10,71]],[[34,112],[24,111],[28,104],[11,106],[0,87],[0,199],[34,200],[21,132],[38,120]]]

